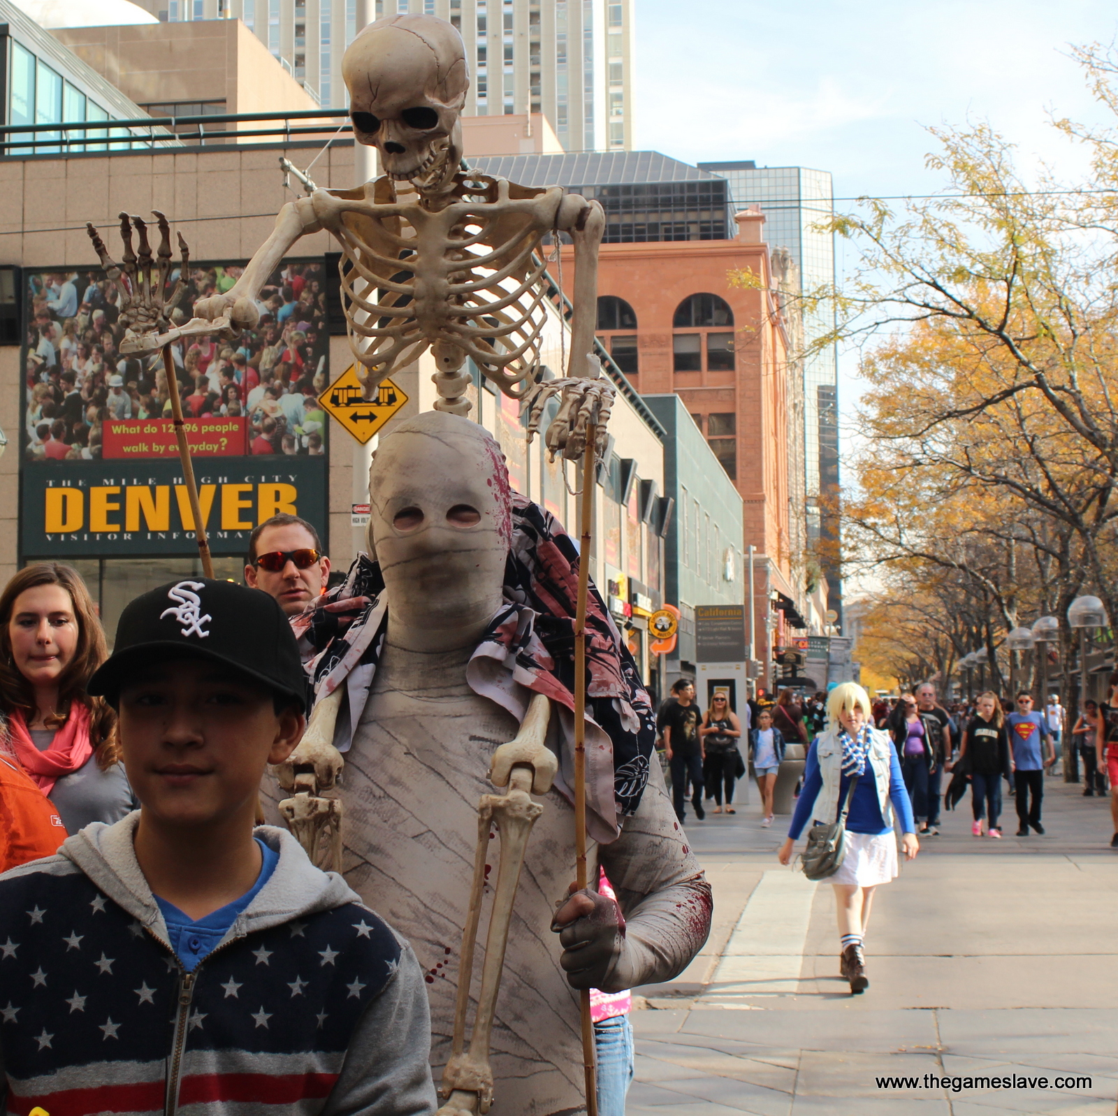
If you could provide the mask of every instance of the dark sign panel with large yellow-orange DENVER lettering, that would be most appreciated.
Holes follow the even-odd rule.
[[[302,516],[325,538],[324,456],[195,460],[216,555],[240,555],[257,523]],[[178,461],[60,461],[21,471],[25,558],[193,555],[193,517]]]

